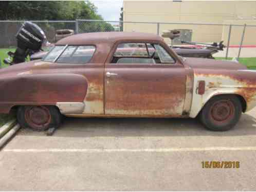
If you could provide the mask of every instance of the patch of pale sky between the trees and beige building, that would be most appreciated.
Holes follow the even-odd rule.
[[[94,3],[94,5],[98,8],[98,14],[100,14],[104,20],[119,20],[120,9],[123,6],[122,0],[90,0],[90,2]]]

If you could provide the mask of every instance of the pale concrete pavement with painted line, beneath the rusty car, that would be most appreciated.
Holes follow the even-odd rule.
[[[256,109],[228,132],[196,119],[67,118],[22,129],[0,152],[1,190],[256,189]],[[240,168],[202,168],[240,161]]]

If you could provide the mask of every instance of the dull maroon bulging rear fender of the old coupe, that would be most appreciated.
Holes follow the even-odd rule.
[[[83,103],[88,83],[79,74],[21,74],[0,78],[0,113],[14,105]]]

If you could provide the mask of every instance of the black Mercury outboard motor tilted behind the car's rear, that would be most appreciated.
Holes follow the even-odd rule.
[[[25,22],[16,34],[17,49],[14,53],[8,52],[9,58],[4,62],[9,65],[25,62],[28,55],[41,50],[46,36],[43,30],[31,22]],[[10,59],[12,57],[12,61]]]

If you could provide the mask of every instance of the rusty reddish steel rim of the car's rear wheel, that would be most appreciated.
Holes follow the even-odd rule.
[[[25,110],[25,119],[33,129],[41,130],[50,124],[51,115],[45,106],[29,106]]]

